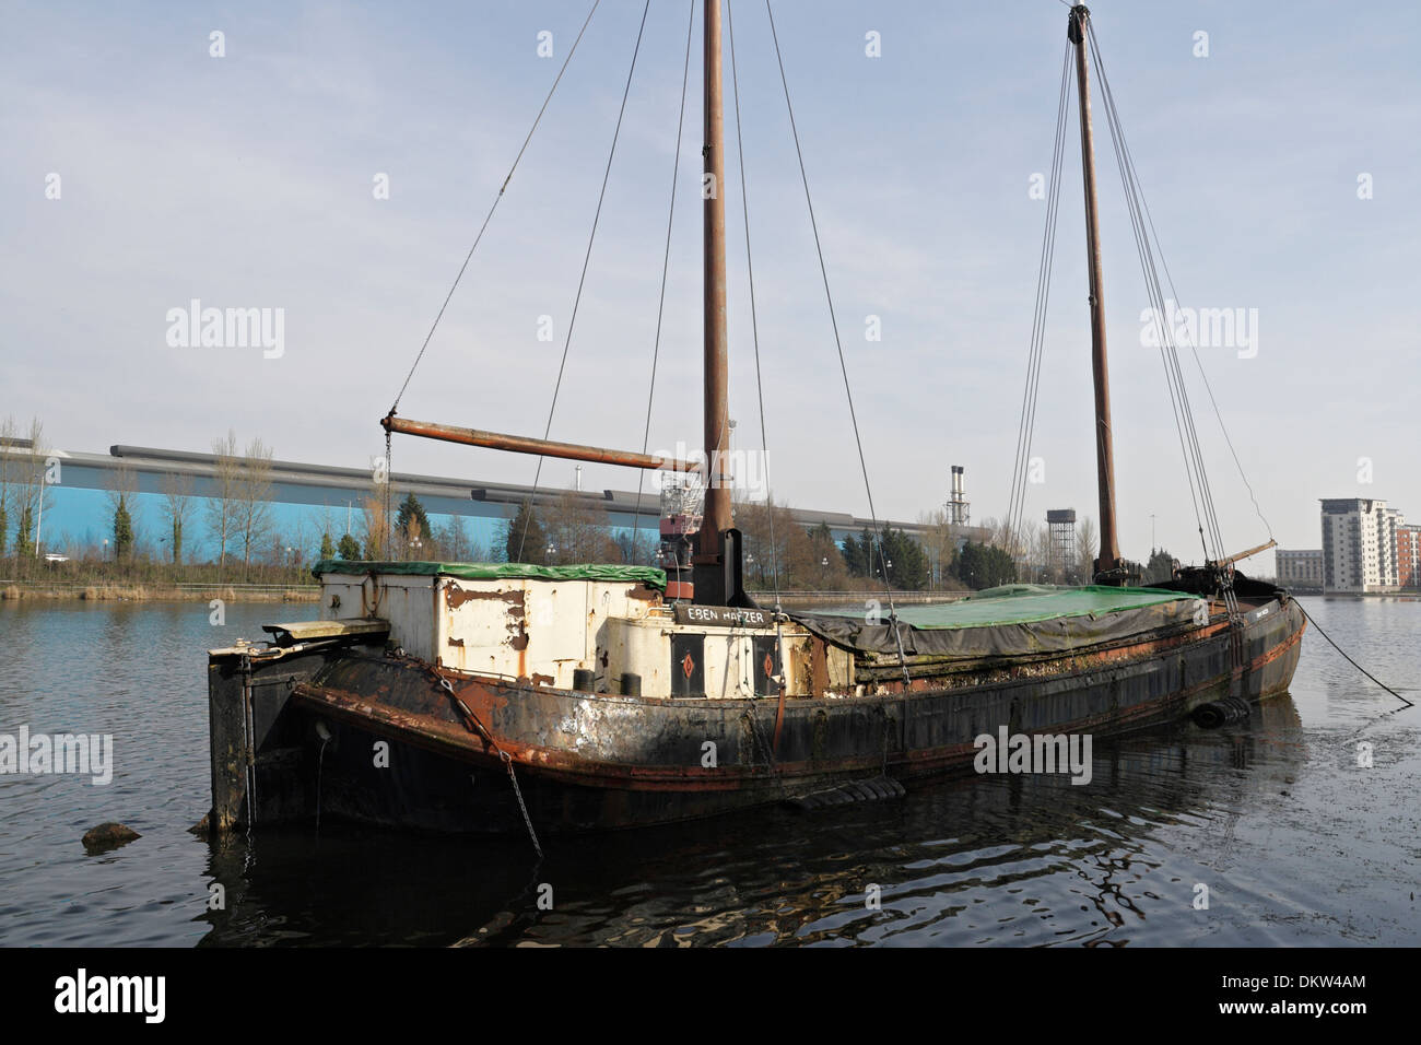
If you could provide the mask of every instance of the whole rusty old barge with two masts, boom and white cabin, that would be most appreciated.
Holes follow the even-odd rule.
[[[719,4],[708,4],[703,155],[708,178],[723,186],[719,18]],[[1100,434],[1096,584],[1009,586],[944,606],[890,603],[887,614],[756,606],[742,583],[729,488],[718,482],[729,429],[716,193],[705,200],[708,466],[689,569],[676,559],[668,582],[661,569],[628,564],[320,563],[320,620],[273,624],[261,645],[209,655],[213,827],[342,816],[455,832],[605,829],[823,795],[888,798],[904,781],[972,766],[982,736],[1054,744],[1187,715],[1212,725],[1283,692],[1304,618],[1286,591],[1238,573],[1238,556],[1216,553],[1157,587],[1125,586],[1086,18],[1084,7],[1071,9]],[[695,471],[645,452],[408,421],[394,409],[382,425]],[[671,536],[685,543],[686,532],[678,520]]]

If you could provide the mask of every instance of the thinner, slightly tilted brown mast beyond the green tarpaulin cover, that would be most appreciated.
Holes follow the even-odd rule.
[[[1076,44],[1076,85],[1080,91],[1080,154],[1086,183],[1086,257],[1090,264],[1090,357],[1096,382],[1096,481],[1100,486],[1100,556],[1096,573],[1120,566],[1115,537],[1115,451],[1110,429],[1110,368],[1106,363],[1106,300],[1100,277],[1100,222],[1096,203],[1096,148],[1090,129],[1090,80],[1087,75],[1084,4],[1070,9],[1066,36]]]

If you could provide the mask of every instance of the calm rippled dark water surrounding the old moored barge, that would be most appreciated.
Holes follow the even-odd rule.
[[[1415,698],[1421,601],[1303,604]],[[189,835],[209,805],[206,648],[314,610],[230,606],[213,628],[200,604],[0,603],[0,732],[112,734],[117,762],[108,786],[0,776],[0,944],[1421,943],[1421,709],[1384,714],[1400,704],[1314,631],[1290,697],[1218,732],[1097,744],[1088,786],[973,776],[899,803],[544,839],[537,869],[523,839]],[[87,856],[104,820],[142,837]],[[226,910],[207,910],[215,883]]]

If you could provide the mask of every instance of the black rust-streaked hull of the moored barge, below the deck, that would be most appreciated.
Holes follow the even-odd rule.
[[[1178,719],[1205,701],[1282,692],[1304,621],[1290,601],[1270,606],[1277,611],[1245,618],[1242,667],[1232,665],[1228,633],[1214,623],[1192,637],[959,665],[907,691],[885,680],[864,697],[790,698],[779,728],[773,697],[576,692],[459,675],[375,650],[327,651],[304,667],[253,661],[237,698],[239,707],[250,705],[249,725],[219,707],[223,697],[213,691],[213,822],[308,818],[320,781],[323,816],[449,832],[523,830],[502,754],[534,823],[553,830],[710,816],[877,776],[885,765],[898,779],[922,779],[969,766],[973,739],[1002,725],[1103,738]],[[219,717],[227,734],[250,735],[226,745],[220,768]],[[388,748],[384,766],[375,765],[379,741]]]

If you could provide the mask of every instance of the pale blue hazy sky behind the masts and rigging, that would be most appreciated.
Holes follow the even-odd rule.
[[[37,414],[68,449],[203,451],[230,427],[280,458],[381,454],[378,419],[587,7],[0,7],[0,415]],[[774,10],[878,512],[939,505],[962,463],[975,519],[1000,515],[1044,219],[1027,188],[1049,168],[1066,7]],[[1317,546],[1323,496],[1385,498],[1421,519],[1421,9],[1101,0],[1093,11],[1185,304],[1258,309],[1255,358],[1201,354],[1276,536]],[[401,414],[541,434],[639,16],[639,3],[603,0]],[[641,444],[686,16],[686,3],[652,4],[553,438]],[[735,16],[772,479],[793,505],[865,513],[764,6],[740,0]],[[213,30],[223,58],[209,57]],[[537,57],[540,30],[553,60]],[[880,58],[864,54],[870,30]],[[1192,54],[1198,30],[1206,58]],[[701,431],[698,53],[654,448]],[[1196,557],[1097,129],[1121,546],[1144,556],[1154,513],[1160,542]],[[1096,513],[1074,122],[1069,141],[1033,518]],[[746,446],[759,434],[733,169],[732,415]],[[51,172],[58,200],[45,199]],[[379,172],[388,200],[372,198]],[[1363,172],[1370,200],[1357,198]],[[284,309],[284,355],[171,348],[166,311],[193,297]],[[553,343],[536,338],[541,314]],[[881,343],[864,338],[868,314]],[[1258,543],[1262,523],[1196,384],[1194,395],[1225,540]],[[1371,485],[1357,482],[1358,458]],[[530,482],[534,459],[399,439],[395,468]],[[570,462],[544,468],[554,486],[571,475]]]

